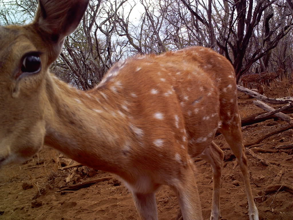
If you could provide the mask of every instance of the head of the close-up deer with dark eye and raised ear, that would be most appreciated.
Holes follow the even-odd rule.
[[[78,26],[88,0],[40,0],[34,21],[0,26],[0,165],[24,162],[41,148],[49,67]],[[1,163],[2,162],[2,163]]]

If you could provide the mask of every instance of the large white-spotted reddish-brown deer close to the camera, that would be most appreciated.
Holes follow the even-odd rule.
[[[188,47],[116,62],[82,91],[50,65],[79,25],[88,0],[40,0],[32,23],[0,26],[0,167],[43,145],[117,175],[142,220],[157,220],[155,193],[176,193],[184,220],[201,220],[193,158],[212,166],[210,219],[220,219],[223,134],[243,175],[250,220],[258,220],[242,141],[235,71],[212,49]]]

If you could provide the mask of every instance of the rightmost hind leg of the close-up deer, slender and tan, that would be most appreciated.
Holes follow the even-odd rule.
[[[222,128],[220,128],[220,132],[223,134],[233,154],[236,156],[238,164],[239,164],[239,168],[242,172],[247,199],[248,199],[249,219],[258,220],[258,210],[255,206],[253,195],[251,192],[247,158],[245,155],[245,148],[242,143],[241,121],[238,114],[237,116],[235,116],[234,121],[232,122],[230,121],[229,123],[223,122]]]

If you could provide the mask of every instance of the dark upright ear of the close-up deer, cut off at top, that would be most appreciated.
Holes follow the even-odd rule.
[[[52,44],[52,57],[60,54],[64,39],[79,25],[89,0],[39,0],[34,25],[42,38]]]

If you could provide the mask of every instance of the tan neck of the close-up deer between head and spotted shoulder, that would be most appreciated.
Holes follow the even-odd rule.
[[[45,145],[95,169],[114,172],[120,159],[117,126],[111,106],[100,93],[88,94],[50,75],[46,82]],[[119,128],[118,128],[119,127]],[[117,153],[119,152],[119,153]],[[121,171],[120,171],[121,172]]]

